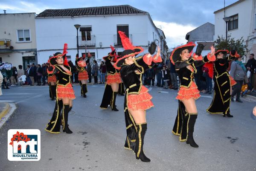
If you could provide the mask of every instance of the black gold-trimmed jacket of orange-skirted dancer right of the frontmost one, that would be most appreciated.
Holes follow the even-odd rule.
[[[175,63],[175,69],[180,78],[180,87],[190,87],[194,80],[194,73],[197,72],[196,67],[199,67],[208,61],[207,57],[204,57],[202,61],[195,61],[193,58],[190,58],[187,61],[177,61]],[[189,65],[191,65],[194,72],[187,68]]]

